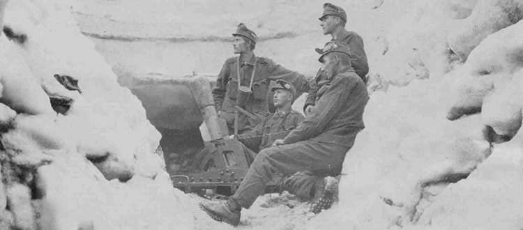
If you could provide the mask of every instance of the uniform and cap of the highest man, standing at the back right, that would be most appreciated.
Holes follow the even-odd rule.
[[[335,6],[331,3],[324,4],[324,13],[319,17],[321,21],[326,15],[335,15],[341,17],[342,20],[347,22],[347,14],[345,10],[339,6]],[[351,56],[351,66],[354,68],[356,75],[360,76],[363,79],[363,82],[366,83],[366,75],[369,72],[369,63],[367,61],[367,54],[365,54],[365,49],[363,47],[363,39],[358,33],[354,31],[347,31],[343,29],[336,39],[331,39],[331,42],[340,42],[349,45],[350,47],[350,56]],[[319,53],[322,52],[321,49],[317,49]],[[310,89],[308,91],[307,99],[305,100],[305,105],[303,109],[307,108],[309,105],[314,105],[316,100],[316,93],[319,89],[319,84],[324,84],[326,81],[325,76],[321,74],[321,70],[318,70],[316,77],[310,83]]]

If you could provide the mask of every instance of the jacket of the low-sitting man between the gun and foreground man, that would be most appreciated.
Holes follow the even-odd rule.
[[[294,110],[275,112],[256,125],[252,131],[238,135],[236,139],[252,151],[259,152],[270,147],[276,139],[284,139],[303,119],[305,116]]]

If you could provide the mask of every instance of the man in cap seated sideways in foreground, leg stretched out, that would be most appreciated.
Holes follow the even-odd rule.
[[[249,208],[264,193],[274,173],[308,170],[317,175],[340,174],[345,154],[364,128],[363,110],[369,100],[365,83],[351,67],[350,55],[344,43],[326,44],[319,61],[327,81],[319,85],[316,106],[285,139],[275,140],[273,147],[256,156],[232,197],[202,202],[202,210],[215,220],[236,226],[241,208]]]

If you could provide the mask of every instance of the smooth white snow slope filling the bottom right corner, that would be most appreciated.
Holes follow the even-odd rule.
[[[467,180],[449,185],[419,224],[441,229],[521,229],[522,136],[496,146]]]

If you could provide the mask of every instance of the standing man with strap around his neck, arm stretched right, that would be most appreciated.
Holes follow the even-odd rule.
[[[252,130],[268,114],[267,93],[271,80],[285,79],[298,91],[309,90],[308,79],[298,72],[288,70],[271,59],[253,53],[257,36],[243,23],[238,25],[232,44],[237,57],[229,58],[216,79],[213,98],[218,116],[224,118],[229,134]],[[236,105],[243,112],[236,112]],[[235,125],[236,123],[236,125]]]

